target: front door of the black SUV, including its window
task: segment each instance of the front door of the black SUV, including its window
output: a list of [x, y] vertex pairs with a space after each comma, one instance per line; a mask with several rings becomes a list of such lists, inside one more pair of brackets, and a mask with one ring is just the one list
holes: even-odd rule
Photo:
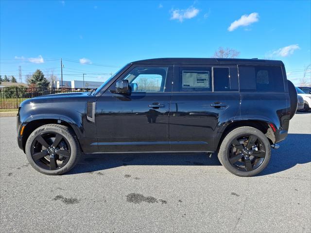
[[127, 79], [131, 95], [113, 94], [116, 80], [96, 103], [99, 150], [169, 150], [169, 106], [173, 66], [129, 68], [118, 80]]

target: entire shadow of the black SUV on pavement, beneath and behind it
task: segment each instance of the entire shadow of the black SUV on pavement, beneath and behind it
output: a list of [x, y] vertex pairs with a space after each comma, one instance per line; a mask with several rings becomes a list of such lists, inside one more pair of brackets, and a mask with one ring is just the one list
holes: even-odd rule
[[[311, 134], [290, 133], [280, 148], [272, 149], [268, 166], [258, 176], [290, 169], [311, 162]], [[82, 155], [66, 174], [86, 173], [119, 166], [221, 166], [217, 154], [208, 153], [120, 153]], [[225, 168], [224, 168], [225, 169]], [[65, 175], [66, 175], [65, 174]]]

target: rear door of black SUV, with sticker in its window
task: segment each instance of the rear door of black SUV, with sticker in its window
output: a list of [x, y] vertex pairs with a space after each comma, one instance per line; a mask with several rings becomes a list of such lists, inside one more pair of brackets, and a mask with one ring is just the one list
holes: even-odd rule
[[214, 151], [240, 105], [237, 66], [177, 65], [170, 107], [170, 149]]

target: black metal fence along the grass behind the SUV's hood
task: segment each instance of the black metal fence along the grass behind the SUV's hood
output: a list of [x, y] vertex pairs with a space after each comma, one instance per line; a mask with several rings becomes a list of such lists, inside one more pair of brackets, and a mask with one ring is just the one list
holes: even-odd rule
[[36, 96], [90, 91], [91, 89], [71, 89], [71, 88], [39, 88], [39, 87], [4, 87], [0, 88], [0, 109], [15, 109], [19, 104], [27, 99]]

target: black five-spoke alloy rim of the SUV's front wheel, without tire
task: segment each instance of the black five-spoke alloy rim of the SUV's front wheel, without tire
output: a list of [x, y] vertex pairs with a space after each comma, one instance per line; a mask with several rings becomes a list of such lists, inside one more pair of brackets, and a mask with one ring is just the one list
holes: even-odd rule
[[70, 159], [71, 149], [60, 133], [45, 132], [37, 135], [31, 145], [31, 156], [37, 166], [46, 170], [64, 167]]

